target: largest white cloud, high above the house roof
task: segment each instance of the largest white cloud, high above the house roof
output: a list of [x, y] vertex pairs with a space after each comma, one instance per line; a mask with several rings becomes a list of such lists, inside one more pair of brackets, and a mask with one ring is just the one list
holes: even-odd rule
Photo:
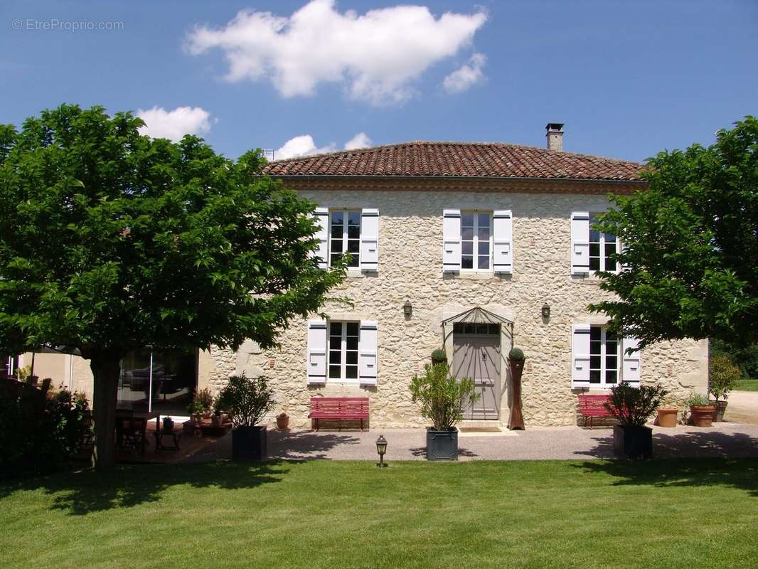
[[197, 25], [186, 38], [193, 55], [219, 48], [226, 79], [271, 80], [282, 96], [313, 95], [319, 83], [343, 83], [352, 99], [402, 102], [432, 65], [470, 44], [487, 14], [397, 5], [365, 14], [312, 0], [289, 17], [242, 10], [225, 26]]

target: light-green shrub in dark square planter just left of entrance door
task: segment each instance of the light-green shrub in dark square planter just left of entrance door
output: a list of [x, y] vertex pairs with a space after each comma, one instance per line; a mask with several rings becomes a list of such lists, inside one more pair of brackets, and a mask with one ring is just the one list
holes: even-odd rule
[[458, 429], [463, 410], [478, 401], [474, 381], [450, 375], [447, 363], [424, 366], [423, 376], [413, 376], [412, 401], [421, 405], [421, 416], [431, 420], [427, 428], [427, 460], [458, 460]]

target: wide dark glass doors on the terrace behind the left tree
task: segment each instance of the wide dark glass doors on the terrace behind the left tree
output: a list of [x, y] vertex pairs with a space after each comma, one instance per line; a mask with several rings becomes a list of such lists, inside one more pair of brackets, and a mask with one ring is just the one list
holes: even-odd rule
[[117, 404], [128, 409], [186, 415], [196, 388], [196, 351], [153, 352], [143, 348], [121, 360]]

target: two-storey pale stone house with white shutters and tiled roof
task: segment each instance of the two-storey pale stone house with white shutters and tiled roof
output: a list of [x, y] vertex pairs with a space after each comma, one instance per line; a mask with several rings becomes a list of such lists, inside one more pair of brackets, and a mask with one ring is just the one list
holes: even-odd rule
[[[548, 124], [547, 149], [413, 142], [271, 162], [267, 174], [318, 204], [324, 267], [351, 253], [333, 296], [352, 306], [330, 302], [325, 319], [293, 322], [280, 350], [247, 342], [236, 353], [186, 354], [183, 363], [165, 359], [158, 375], [188, 394], [216, 391], [231, 373], [264, 374], [277, 413], [296, 428], [310, 426], [309, 401], [318, 395], [370, 398], [373, 427], [424, 426], [408, 385], [439, 347], [481, 393], [467, 410], [471, 421], [507, 421], [514, 345], [528, 358], [527, 426], [576, 424], [578, 393], [622, 380], [659, 382], [678, 398], [706, 391], [707, 341], [628, 355], [634, 338], [616, 338], [603, 316], [587, 312], [609, 297], [594, 272], [614, 270], [608, 254], [619, 247], [590, 228], [592, 218], [609, 207], [609, 193], [644, 190], [643, 166], [563, 152], [562, 134], [562, 124]], [[70, 384], [89, 391], [88, 370], [70, 359]], [[124, 366], [124, 385], [140, 386], [130, 393], [160, 404], [168, 391], [163, 401], [171, 401], [172, 388], [148, 393], [155, 361], [138, 360]], [[126, 394], [124, 387], [124, 401], [135, 400]]]

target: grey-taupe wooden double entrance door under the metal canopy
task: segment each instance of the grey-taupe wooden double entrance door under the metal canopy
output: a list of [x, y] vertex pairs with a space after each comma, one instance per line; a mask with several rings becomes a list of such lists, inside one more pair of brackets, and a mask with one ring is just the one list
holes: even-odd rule
[[465, 419], [500, 419], [500, 326], [468, 324], [453, 332], [454, 376], [474, 380], [480, 398], [465, 410]]

